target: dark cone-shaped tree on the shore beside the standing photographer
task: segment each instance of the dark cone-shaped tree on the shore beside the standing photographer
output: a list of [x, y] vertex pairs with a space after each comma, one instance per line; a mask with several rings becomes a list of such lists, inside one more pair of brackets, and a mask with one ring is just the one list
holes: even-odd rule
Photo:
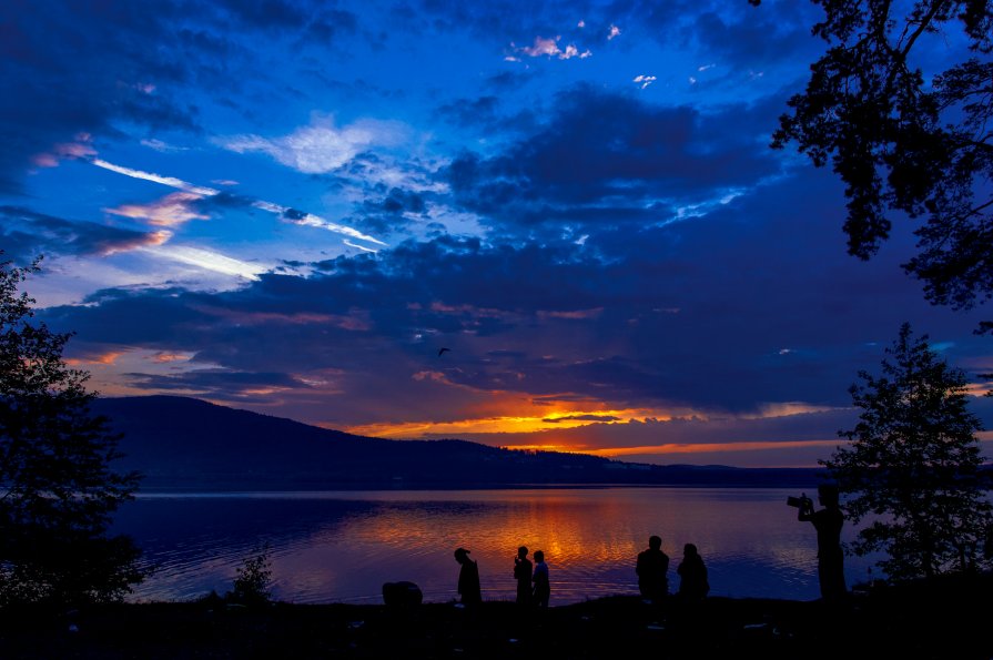
[[848, 517], [871, 520], [853, 549], [885, 552], [880, 567], [894, 579], [979, 567], [989, 559], [991, 506], [965, 375], [909, 324], [886, 354], [882, 375], [860, 372], [862, 384], [850, 388], [862, 410], [840, 434], [850, 445], [820, 461], [851, 496]]

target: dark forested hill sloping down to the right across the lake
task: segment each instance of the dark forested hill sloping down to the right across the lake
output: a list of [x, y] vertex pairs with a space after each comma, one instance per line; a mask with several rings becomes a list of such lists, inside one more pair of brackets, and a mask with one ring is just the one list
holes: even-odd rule
[[817, 484], [814, 469], [657, 466], [456, 439], [369, 438], [178, 396], [100, 398], [93, 412], [124, 434], [119, 467], [141, 471], [146, 490]]

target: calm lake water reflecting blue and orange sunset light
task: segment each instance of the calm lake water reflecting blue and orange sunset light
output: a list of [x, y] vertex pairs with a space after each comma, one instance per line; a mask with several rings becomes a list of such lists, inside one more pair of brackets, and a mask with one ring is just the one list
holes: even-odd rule
[[[231, 589], [235, 569], [268, 545], [280, 600], [382, 602], [383, 582], [411, 580], [425, 601], [456, 598], [453, 551], [472, 550], [484, 598], [513, 600], [517, 547], [545, 550], [551, 603], [637, 593], [634, 566], [662, 538], [670, 590], [682, 546], [696, 544], [711, 595], [819, 597], [813, 526], [783, 489], [595, 488], [322, 491], [139, 496], [115, 530], [144, 550], [151, 578], [130, 598], [188, 600]], [[852, 530], [845, 529], [843, 540]], [[847, 558], [849, 586], [867, 560]]]

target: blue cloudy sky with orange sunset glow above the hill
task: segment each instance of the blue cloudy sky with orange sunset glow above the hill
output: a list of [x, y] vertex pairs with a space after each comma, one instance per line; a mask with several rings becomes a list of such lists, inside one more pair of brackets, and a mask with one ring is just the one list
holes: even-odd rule
[[909, 322], [993, 428], [990, 308], [924, 299], [916, 221], [848, 256], [842, 184], [769, 148], [819, 12], [9, 0], [0, 248], [44, 256], [26, 290], [103, 396], [812, 466]]

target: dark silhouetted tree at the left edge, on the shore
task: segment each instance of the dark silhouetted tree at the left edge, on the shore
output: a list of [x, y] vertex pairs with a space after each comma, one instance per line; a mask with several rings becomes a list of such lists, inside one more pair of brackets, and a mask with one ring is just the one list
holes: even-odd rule
[[37, 270], [0, 262], [0, 603], [112, 600], [141, 578], [131, 539], [107, 536], [138, 475], [111, 467], [119, 436], [62, 359], [70, 335], [32, 322], [18, 291]]

